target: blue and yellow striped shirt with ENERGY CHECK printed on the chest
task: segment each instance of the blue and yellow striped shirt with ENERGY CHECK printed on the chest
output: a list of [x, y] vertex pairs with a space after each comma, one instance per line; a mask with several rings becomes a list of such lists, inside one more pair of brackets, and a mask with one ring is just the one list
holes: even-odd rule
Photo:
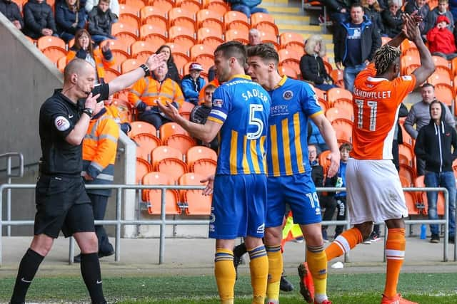
[[322, 113], [311, 85], [284, 76], [271, 95], [268, 118], [268, 176], [311, 172], [308, 162], [308, 117]]

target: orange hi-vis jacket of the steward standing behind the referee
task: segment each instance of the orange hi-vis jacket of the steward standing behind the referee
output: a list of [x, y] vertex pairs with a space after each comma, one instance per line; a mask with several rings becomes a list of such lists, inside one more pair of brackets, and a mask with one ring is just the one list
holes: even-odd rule
[[[112, 184], [116, 162], [119, 125], [105, 109], [94, 116], [83, 140], [83, 172], [94, 180], [86, 184]], [[88, 193], [109, 196], [110, 189], [87, 189]]]

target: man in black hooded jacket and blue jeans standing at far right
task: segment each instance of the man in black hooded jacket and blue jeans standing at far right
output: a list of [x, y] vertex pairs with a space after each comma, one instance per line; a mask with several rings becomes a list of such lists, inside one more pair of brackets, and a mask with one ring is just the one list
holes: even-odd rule
[[[457, 134], [453, 125], [445, 123], [446, 106], [438, 100], [430, 104], [431, 120], [421, 127], [414, 151], [426, 162], [426, 187], [444, 187], [449, 192], [449, 242], [453, 243], [456, 231], [456, 179], [452, 162], [457, 158]], [[437, 192], [427, 192], [428, 219], [438, 219], [436, 212]], [[439, 243], [437, 224], [430, 225], [431, 243]]]

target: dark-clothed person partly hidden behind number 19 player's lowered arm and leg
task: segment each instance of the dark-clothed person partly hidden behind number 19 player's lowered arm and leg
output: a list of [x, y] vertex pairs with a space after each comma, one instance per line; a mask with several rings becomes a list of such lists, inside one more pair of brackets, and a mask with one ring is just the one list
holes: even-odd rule
[[[308, 158], [311, 165], [311, 179], [313, 179], [316, 187], [323, 187], [323, 167], [319, 164], [317, 159], [316, 145], [308, 145]], [[319, 205], [321, 209], [325, 209], [322, 216], [322, 221], [331, 221], [336, 209], [336, 201], [332, 196], [323, 195], [318, 192]], [[327, 226], [322, 226], [322, 239], [325, 243], [328, 242]]]

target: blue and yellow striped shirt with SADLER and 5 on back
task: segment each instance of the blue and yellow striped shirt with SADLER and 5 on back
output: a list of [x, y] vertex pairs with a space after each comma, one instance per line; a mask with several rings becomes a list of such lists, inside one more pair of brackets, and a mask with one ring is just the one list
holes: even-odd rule
[[246, 75], [234, 75], [216, 89], [208, 120], [219, 132], [216, 174], [266, 174], [270, 95]]

